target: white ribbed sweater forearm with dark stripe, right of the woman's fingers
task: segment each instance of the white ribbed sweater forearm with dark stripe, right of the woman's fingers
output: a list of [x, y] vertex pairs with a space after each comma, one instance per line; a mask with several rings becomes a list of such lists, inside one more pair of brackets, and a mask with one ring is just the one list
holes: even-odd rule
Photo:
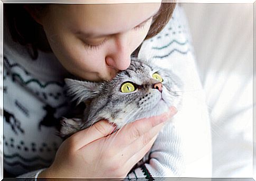
[[165, 125], [158, 134], [156, 142], [149, 152], [149, 162], [140, 165], [128, 174], [126, 180], [144, 177], [178, 177], [183, 170], [182, 142], [172, 123]]

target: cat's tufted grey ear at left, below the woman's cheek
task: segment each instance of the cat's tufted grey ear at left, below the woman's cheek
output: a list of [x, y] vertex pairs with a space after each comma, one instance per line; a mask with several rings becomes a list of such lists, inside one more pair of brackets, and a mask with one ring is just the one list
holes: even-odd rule
[[96, 82], [77, 81], [70, 78], [65, 78], [64, 81], [68, 88], [68, 95], [72, 96], [73, 100], [77, 100], [77, 104], [96, 97], [102, 87], [101, 83]]

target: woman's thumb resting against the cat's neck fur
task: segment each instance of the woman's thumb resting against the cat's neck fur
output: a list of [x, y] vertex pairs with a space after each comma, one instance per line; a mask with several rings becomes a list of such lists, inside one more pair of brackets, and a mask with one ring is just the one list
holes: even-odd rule
[[73, 134], [70, 138], [73, 139], [73, 142], [75, 143], [73, 144], [73, 146], [75, 146], [74, 149], [80, 149], [97, 139], [110, 135], [115, 128], [116, 127], [110, 124], [107, 120], [103, 119], [92, 126]]

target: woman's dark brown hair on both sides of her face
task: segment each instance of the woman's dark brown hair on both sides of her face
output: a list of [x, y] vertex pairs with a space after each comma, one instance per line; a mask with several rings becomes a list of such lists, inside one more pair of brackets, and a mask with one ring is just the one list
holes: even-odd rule
[[[145, 39], [155, 36], [164, 28], [170, 17], [172, 17], [175, 5], [175, 3], [161, 4], [158, 13], [153, 17], [153, 23]], [[38, 49], [50, 52], [51, 48], [40, 42], [39, 38], [42, 38], [42, 36], [46, 38], [42, 25], [34, 21], [24, 8], [25, 6], [33, 9], [36, 13], [42, 14], [47, 11], [49, 4], [4, 4], [4, 16], [6, 16], [7, 26], [13, 41], [26, 46], [32, 59], [36, 59]], [[140, 46], [135, 52], [138, 52], [139, 48]]]

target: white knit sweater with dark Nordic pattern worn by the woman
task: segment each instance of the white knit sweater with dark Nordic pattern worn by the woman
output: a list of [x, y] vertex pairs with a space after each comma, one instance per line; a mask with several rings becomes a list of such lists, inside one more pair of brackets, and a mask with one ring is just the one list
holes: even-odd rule
[[[6, 27], [5, 27], [6, 28]], [[183, 106], [159, 133], [149, 163], [126, 179], [211, 177], [211, 137], [204, 92], [197, 75], [191, 39], [181, 7], [162, 32], [141, 46], [139, 58], [170, 68], [184, 83]], [[52, 53], [39, 51], [33, 61], [4, 31], [4, 169], [36, 178], [53, 162], [62, 139], [54, 124], [69, 109], [63, 78], [69, 73]], [[50, 120], [48, 122], [47, 120]]]

